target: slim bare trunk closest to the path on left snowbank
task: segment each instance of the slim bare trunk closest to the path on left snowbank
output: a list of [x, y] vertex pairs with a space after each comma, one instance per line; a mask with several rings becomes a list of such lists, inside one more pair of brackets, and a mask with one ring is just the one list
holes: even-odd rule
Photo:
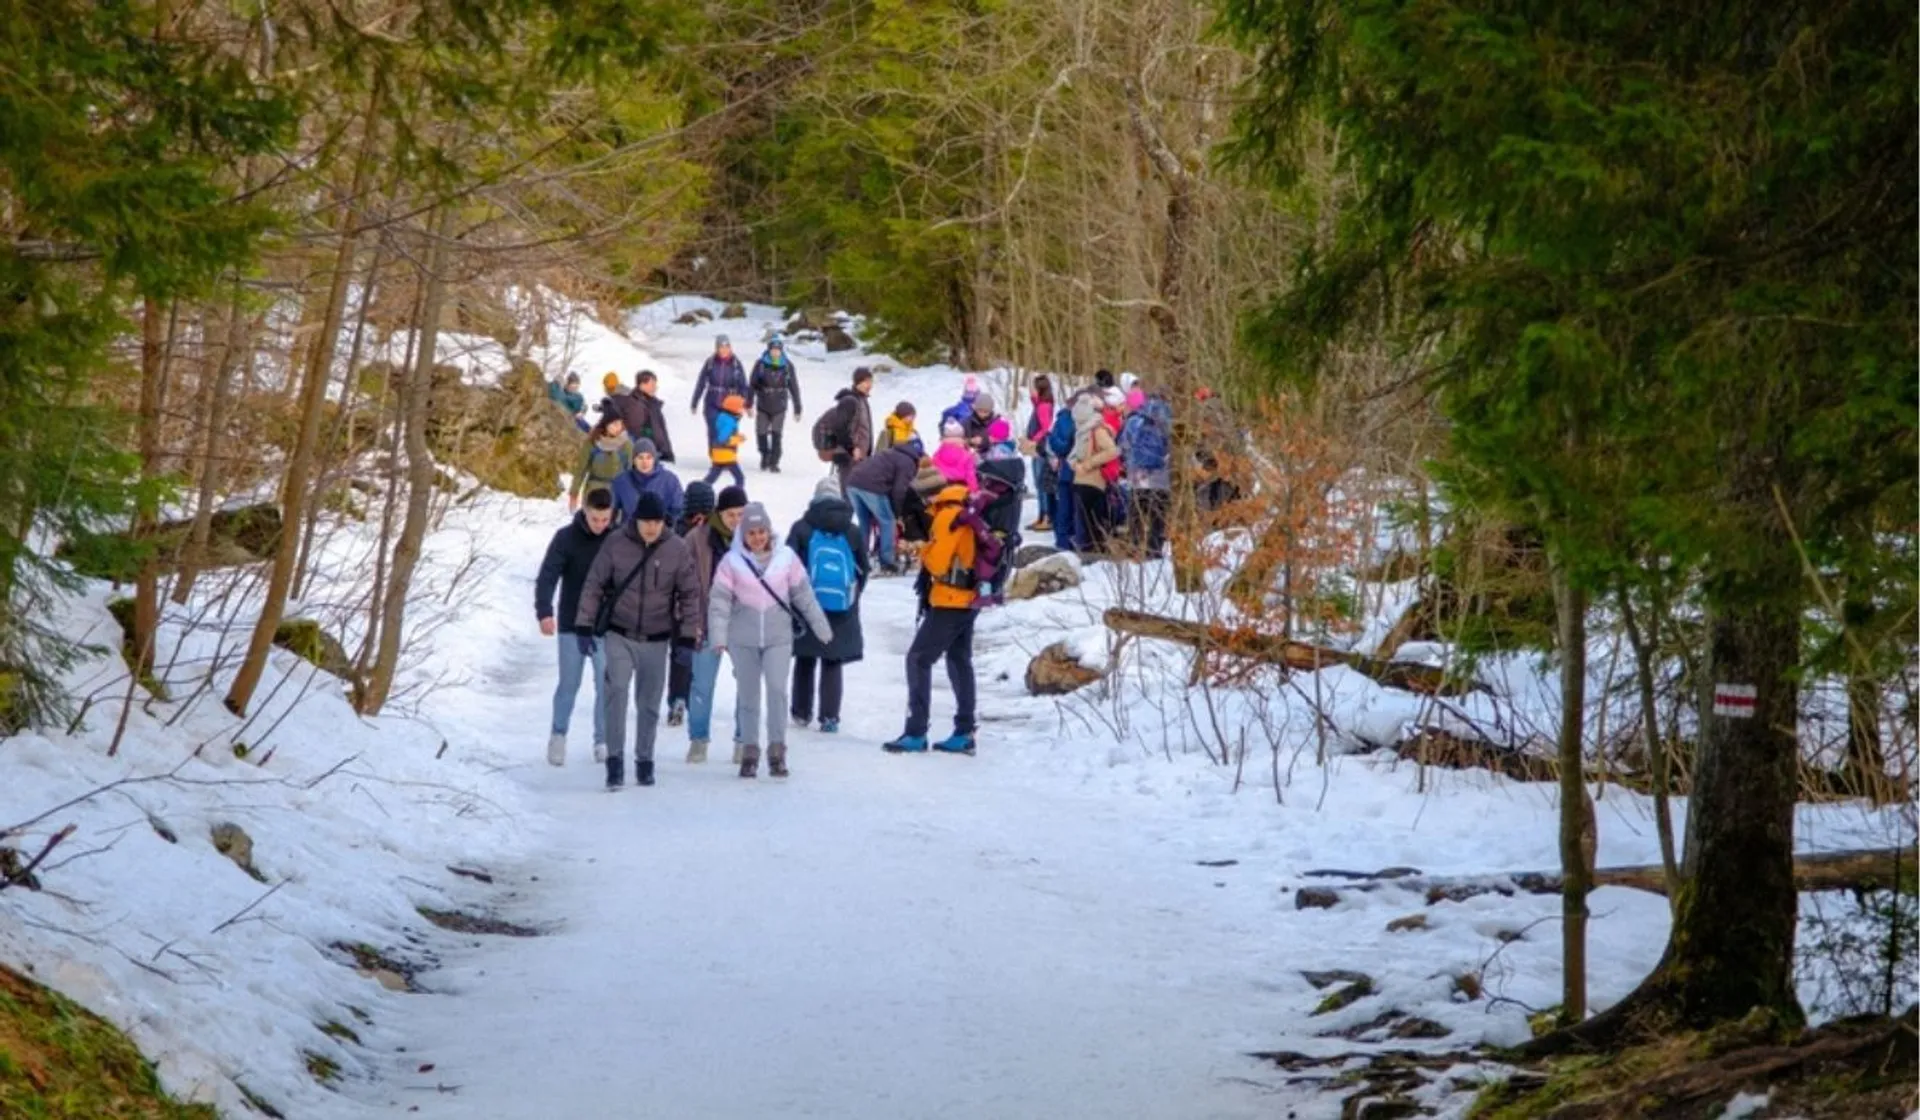
[[407, 613], [407, 592], [413, 586], [413, 569], [420, 561], [430, 513], [428, 505], [434, 499], [434, 457], [426, 448], [426, 407], [434, 386], [434, 344], [440, 334], [440, 307], [445, 302], [445, 242], [451, 229], [453, 211], [451, 207], [442, 207], [434, 217], [434, 234], [426, 248], [426, 298], [420, 302], [417, 330], [420, 352], [415, 355], [413, 373], [407, 377], [403, 403], [407, 423], [407, 521], [401, 523], [399, 540], [394, 544], [394, 571], [388, 576], [386, 609], [380, 619], [380, 653], [374, 657], [372, 672], [367, 678], [367, 692], [361, 695], [361, 715], [378, 715], [394, 690], [394, 672], [399, 667], [401, 622]]

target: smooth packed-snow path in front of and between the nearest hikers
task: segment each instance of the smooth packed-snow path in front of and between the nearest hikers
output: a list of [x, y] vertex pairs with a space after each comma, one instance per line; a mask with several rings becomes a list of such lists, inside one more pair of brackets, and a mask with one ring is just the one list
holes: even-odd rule
[[[755, 476], [797, 513], [812, 469]], [[505, 571], [505, 584], [524, 572]], [[516, 603], [515, 603], [516, 605]], [[551, 816], [509, 916], [540, 939], [445, 961], [399, 1107], [426, 1116], [1254, 1116], [1263, 1037], [1244, 953], [1271, 903], [1217, 889], [1204, 851], [1137, 805], [1035, 784], [1014, 726], [981, 755], [893, 757], [912, 636], [904, 580], [864, 605], [839, 736], [793, 732], [793, 778], [682, 761], [660, 730], [651, 790], [599, 790], [578, 734], [538, 763], [551, 642], [490, 651], [468, 726], [492, 728]], [[995, 692], [983, 682], [983, 711]], [[584, 711], [582, 697], [582, 717]], [[950, 713], [945, 682], [935, 720]], [[1016, 724], [1018, 726], [1018, 724]], [[1238, 1009], [1221, 1014], [1221, 1009]], [[420, 1087], [459, 1085], [457, 1093]]]

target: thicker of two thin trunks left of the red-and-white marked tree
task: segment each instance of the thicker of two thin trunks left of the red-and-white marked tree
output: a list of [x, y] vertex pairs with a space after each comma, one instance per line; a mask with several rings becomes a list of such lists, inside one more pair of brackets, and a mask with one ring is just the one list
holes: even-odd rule
[[1594, 818], [1586, 795], [1586, 592], [1553, 565], [1561, 655], [1561, 1022], [1586, 1020], [1586, 895], [1594, 878]]

